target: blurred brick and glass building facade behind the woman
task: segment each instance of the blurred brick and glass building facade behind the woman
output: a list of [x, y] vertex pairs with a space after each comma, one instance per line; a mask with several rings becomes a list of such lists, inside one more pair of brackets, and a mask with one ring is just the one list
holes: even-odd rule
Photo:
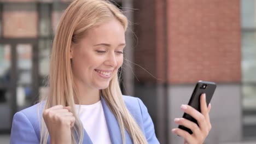
[[[0, 2], [0, 131], [46, 95], [55, 28], [70, 1]], [[256, 1], [113, 1], [130, 20], [121, 88], [139, 97], [160, 143], [199, 80], [217, 83], [206, 143], [256, 139]], [[8, 119], [8, 121], [7, 121]]]

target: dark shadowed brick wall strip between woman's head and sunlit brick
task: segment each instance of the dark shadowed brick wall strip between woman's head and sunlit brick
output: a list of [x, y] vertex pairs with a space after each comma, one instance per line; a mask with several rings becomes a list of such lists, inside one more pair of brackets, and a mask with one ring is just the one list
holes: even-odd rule
[[[133, 1], [134, 8], [134, 25], [135, 47], [134, 49], [135, 63], [146, 69], [150, 74], [156, 77], [156, 17], [155, 17], [155, 1], [141, 0]], [[127, 47], [128, 48], [128, 47]], [[147, 73], [146, 70], [135, 65], [135, 75], [139, 82], [156, 82], [156, 79]], [[137, 82], [137, 79], [135, 79]]]

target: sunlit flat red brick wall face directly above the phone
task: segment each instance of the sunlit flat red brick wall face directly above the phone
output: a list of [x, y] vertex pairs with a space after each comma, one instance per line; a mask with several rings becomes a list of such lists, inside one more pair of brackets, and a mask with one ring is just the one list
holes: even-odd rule
[[240, 1], [168, 0], [168, 82], [240, 82]]

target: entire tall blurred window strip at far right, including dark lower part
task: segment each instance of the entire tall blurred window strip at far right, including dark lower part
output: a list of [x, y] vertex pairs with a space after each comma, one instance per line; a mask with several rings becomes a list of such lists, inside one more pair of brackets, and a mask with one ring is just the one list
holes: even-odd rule
[[243, 138], [256, 134], [256, 0], [241, 1]]

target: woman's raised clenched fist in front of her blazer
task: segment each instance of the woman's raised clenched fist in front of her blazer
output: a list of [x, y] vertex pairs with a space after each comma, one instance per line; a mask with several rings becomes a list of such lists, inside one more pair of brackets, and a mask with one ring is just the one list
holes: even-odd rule
[[75, 117], [69, 106], [56, 105], [43, 112], [44, 122], [49, 131], [50, 143], [72, 143], [71, 128]]

